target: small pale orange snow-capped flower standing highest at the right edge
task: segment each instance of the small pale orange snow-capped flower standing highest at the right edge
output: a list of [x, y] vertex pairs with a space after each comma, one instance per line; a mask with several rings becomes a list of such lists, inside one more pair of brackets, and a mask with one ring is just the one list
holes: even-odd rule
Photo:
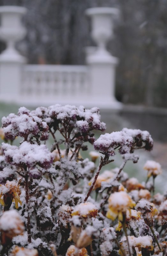
[[153, 176], [155, 178], [162, 173], [161, 165], [153, 160], [148, 160], [144, 165], [144, 169], [148, 171], [148, 177]]

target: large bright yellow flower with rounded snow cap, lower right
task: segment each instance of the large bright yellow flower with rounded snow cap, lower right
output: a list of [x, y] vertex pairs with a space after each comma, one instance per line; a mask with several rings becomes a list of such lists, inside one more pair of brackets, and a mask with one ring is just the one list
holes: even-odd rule
[[133, 208], [136, 204], [131, 199], [131, 197], [125, 192], [115, 192], [109, 197], [109, 209], [107, 211], [107, 218], [115, 220], [118, 217], [118, 220], [123, 221], [123, 214], [126, 213], [126, 210]]

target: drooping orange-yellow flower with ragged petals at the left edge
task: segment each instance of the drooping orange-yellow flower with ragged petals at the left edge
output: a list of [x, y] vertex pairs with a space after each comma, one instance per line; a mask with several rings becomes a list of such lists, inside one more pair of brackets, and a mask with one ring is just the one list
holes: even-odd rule
[[19, 185], [15, 181], [7, 181], [5, 185], [0, 185], [0, 203], [4, 205], [5, 210], [10, 208], [12, 200], [15, 201], [15, 207], [18, 209], [18, 203], [21, 205], [20, 194]]

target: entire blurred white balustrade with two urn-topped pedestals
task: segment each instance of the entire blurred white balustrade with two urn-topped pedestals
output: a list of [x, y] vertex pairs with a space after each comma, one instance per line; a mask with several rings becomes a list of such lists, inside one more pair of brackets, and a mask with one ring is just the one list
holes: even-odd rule
[[92, 37], [97, 47], [87, 48], [86, 66], [27, 65], [15, 49], [24, 38], [21, 17], [26, 9], [1, 6], [0, 38], [6, 49], [0, 54], [0, 100], [21, 105], [75, 104], [86, 107], [120, 108], [115, 94], [115, 69], [118, 59], [106, 50], [112, 37], [115, 8], [91, 8]]

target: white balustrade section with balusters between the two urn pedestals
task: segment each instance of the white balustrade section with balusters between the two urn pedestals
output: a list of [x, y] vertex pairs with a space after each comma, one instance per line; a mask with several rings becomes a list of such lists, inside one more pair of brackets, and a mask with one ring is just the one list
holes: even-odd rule
[[90, 92], [87, 66], [25, 65], [20, 95], [26, 104], [80, 104]]

